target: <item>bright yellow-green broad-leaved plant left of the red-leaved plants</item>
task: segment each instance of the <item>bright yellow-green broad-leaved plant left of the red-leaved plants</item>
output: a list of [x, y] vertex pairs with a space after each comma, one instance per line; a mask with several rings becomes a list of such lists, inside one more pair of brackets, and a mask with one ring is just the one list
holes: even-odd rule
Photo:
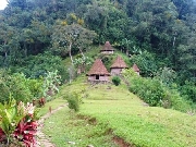
[[24, 113], [17, 112], [17, 106], [14, 99], [10, 99], [4, 105], [0, 103], [0, 128], [5, 134], [7, 144], [10, 144], [15, 127], [24, 117]]

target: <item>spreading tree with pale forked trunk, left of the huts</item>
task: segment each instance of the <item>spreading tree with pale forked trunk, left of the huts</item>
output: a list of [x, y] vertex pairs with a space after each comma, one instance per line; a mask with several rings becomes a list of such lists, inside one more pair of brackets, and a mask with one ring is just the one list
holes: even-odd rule
[[54, 26], [52, 49], [58, 51], [61, 56], [63, 53], [69, 53], [73, 64], [72, 49], [75, 47], [79, 49], [83, 54], [83, 48], [93, 42], [96, 34], [78, 24], [62, 25], [61, 23]]

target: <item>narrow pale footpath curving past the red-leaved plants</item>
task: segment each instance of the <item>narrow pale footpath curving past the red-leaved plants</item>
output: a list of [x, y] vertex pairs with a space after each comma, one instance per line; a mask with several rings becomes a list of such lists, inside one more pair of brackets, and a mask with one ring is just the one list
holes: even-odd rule
[[51, 114], [56, 113], [57, 111], [59, 111], [60, 109], [62, 109], [63, 107], [66, 107], [68, 103], [62, 105], [60, 107], [58, 107], [57, 109], [52, 110], [51, 113], [48, 112], [47, 114], [45, 114], [44, 117], [41, 117], [38, 121], [39, 126], [37, 130], [37, 145], [36, 147], [56, 147], [56, 145], [53, 145], [48, 137], [41, 132], [41, 128], [44, 126], [44, 122], [46, 119], [48, 119]]

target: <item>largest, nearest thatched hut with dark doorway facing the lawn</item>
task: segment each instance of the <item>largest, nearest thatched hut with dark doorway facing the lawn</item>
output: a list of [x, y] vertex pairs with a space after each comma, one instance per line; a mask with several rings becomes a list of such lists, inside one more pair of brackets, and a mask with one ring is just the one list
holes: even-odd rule
[[89, 82], [108, 82], [110, 73], [100, 59], [97, 59], [89, 72], [86, 74]]

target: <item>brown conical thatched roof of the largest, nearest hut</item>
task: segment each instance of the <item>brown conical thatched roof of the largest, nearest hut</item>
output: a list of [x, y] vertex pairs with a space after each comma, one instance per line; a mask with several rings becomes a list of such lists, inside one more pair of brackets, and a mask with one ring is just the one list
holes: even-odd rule
[[87, 75], [110, 75], [100, 59], [97, 59]]

